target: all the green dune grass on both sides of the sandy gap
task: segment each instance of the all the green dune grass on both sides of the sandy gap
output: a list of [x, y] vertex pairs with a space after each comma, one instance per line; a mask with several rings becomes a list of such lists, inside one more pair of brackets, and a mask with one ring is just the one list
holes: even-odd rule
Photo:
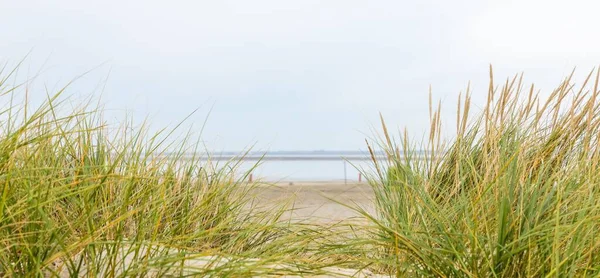
[[[8, 75], [10, 76], [9, 73]], [[490, 72], [490, 76], [492, 76]], [[456, 137], [440, 107], [428, 141], [383, 134], [363, 173], [366, 224], [289, 221], [258, 205], [240, 160], [215, 166], [191, 136], [108, 125], [62, 91], [36, 109], [0, 79], [1, 276], [600, 275], [599, 74], [548, 97], [522, 76], [472, 112], [459, 97]], [[425, 159], [420, 150], [427, 150]], [[168, 154], [168, 155], [167, 155]], [[241, 154], [243, 155], [243, 154]], [[374, 158], [374, 155], [373, 155]], [[346, 204], [353, 207], [353, 204]], [[339, 270], [339, 269], [337, 269]]]

